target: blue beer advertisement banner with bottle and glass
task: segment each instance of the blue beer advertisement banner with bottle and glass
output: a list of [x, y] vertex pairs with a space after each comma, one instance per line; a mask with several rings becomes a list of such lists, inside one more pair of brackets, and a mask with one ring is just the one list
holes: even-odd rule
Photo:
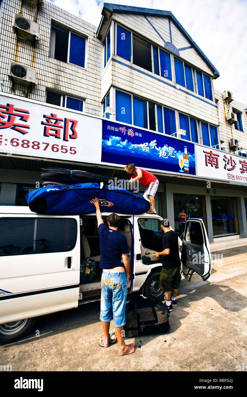
[[110, 120], [102, 120], [101, 161], [196, 175], [193, 143]]

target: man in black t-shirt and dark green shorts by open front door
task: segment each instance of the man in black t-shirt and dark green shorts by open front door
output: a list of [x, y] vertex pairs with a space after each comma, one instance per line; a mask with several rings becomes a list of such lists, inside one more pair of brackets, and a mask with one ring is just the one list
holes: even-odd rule
[[[167, 308], [172, 311], [172, 305], [176, 306], [176, 296], [181, 281], [181, 261], [178, 252], [178, 235], [174, 230], [170, 230], [168, 220], [161, 221], [161, 230], [165, 233], [162, 237], [163, 251], [156, 252], [162, 258], [162, 269], [159, 278], [159, 287], [165, 291]], [[172, 297], [171, 295], [172, 291]]]

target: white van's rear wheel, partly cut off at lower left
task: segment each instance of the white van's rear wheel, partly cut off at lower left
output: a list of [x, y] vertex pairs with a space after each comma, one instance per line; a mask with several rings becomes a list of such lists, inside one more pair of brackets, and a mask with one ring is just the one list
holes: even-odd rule
[[0, 324], [0, 343], [9, 343], [27, 335], [33, 328], [36, 318], [11, 321]]

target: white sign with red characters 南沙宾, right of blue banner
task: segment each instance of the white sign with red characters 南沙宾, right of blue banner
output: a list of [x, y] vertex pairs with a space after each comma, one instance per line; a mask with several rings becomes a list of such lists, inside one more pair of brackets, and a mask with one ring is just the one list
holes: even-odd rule
[[205, 146], [196, 146], [197, 175], [247, 183], [247, 158]]

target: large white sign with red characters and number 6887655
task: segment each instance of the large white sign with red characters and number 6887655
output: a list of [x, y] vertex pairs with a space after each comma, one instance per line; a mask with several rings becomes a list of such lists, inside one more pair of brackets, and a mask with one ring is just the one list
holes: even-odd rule
[[101, 119], [0, 95], [0, 154], [100, 162]]

